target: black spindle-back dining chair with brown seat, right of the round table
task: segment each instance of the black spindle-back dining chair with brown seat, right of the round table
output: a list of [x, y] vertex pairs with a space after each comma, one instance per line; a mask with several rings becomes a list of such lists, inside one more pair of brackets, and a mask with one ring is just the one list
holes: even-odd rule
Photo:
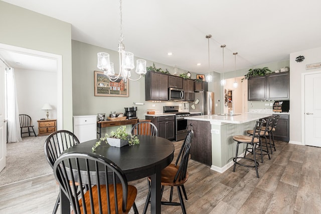
[[[189, 178], [189, 174], [187, 172], [187, 166], [188, 166], [188, 161], [190, 156], [190, 148], [191, 148], [193, 135], [194, 135], [193, 129], [189, 130], [182, 144], [181, 150], [178, 154], [175, 164], [171, 163], [166, 168], [164, 168], [161, 173], [162, 174], [161, 175], [162, 195], [164, 192], [164, 187], [171, 186], [170, 201], [162, 201], [162, 204], [163, 205], [181, 205], [182, 211], [184, 214], [186, 213], [186, 208], [184, 205], [181, 188], [183, 190], [185, 199], [187, 200], [188, 198], [184, 187], [184, 183], [186, 183], [187, 179]], [[148, 179], [150, 180], [151, 178], [148, 177]], [[180, 203], [172, 201], [174, 186], [177, 187]], [[150, 188], [148, 190], [148, 194], [147, 194], [147, 198], [146, 198], [146, 202], [143, 210], [144, 214], [147, 211], [149, 202], [150, 202]]]

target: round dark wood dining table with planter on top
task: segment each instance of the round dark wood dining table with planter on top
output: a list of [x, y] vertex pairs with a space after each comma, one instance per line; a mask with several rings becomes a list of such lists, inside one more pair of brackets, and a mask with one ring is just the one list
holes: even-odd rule
[[[137, 135], [139, 144], [113, 147], [104, 141], [92, 151], [98, 139], [82, 142], [66, 149], [62, 154], [69, 152], [92, 152], [100, 154], [121, 168], [127, 181], [150, 177], [150, 213], [161, 213], [161, 171], [174, 158], [174, 144], [163, 138], [149, 135]], [[147, 185], [147, 183], [146, 183]], [[138, 189], [139, 191], [139, 189]], [[60, 190], [61, 213], [70, 213], [68, 197]]]

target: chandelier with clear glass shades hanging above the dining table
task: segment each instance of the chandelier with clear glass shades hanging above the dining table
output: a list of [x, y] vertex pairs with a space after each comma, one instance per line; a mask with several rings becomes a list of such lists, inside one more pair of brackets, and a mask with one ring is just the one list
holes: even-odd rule
[[114, 64], [109, 61], [109, 54], [100, 52], [97, 54], [97, 68], [104, 72], [104, 75], [108, 77], [111, 82], [115, 82], [118, 79], [122, 79], [127, 82], [127, 79], [131, 81], [137, 81], [142, 75], [146, 74], [146, 61], [137, 60], [136, 61], [136, 73], [139, 75], [138, 79], [131, 79], [130, 71], [135, 68], [134, 66], [134, 54], [125, 51], [125, 45], [123, 44], [124, 36], [122, 34], [122, 0], [120, 0], [120, 39], [118, 44], [119, 53], [119, 73], [115, 76]]

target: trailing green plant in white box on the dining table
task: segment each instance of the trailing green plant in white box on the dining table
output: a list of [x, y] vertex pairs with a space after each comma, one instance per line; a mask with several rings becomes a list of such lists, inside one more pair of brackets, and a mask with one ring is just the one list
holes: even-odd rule
[[126, 126], [120, 126], [117, 128], [116, 131], [111, 131], [110, 135], [105, 133], [104, 137], [101, 137], [99, 141], [96, 142], [96, 144], [92, 147], [92, 151], [96, 151], [96, 148], [100, 145], [102, 141], [105, 141], [108, 143], [107, 138], [117, 138], [117, 139], [122, 139], [122, 140], [128, 140], [128, 144], [130, 146], [139, 144], [139, 139], [136, 135], [131, 135], [126, 132]]

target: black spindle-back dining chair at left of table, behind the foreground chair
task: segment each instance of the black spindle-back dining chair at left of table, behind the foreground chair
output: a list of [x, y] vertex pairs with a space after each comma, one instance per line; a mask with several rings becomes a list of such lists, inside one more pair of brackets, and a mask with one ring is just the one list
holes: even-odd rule
[[[49, 165], [54, 168], [54, 164], [60, 154], [67, 148], [77, 145], [79, 143], [78, 138], [72, 132], [68, 130], [58, 130], [51, 133], [44, 145], [45, 156]], [[57, 212], [58, 205], [60, 203], [60, 197], [58, 195], [53, 213]]]

